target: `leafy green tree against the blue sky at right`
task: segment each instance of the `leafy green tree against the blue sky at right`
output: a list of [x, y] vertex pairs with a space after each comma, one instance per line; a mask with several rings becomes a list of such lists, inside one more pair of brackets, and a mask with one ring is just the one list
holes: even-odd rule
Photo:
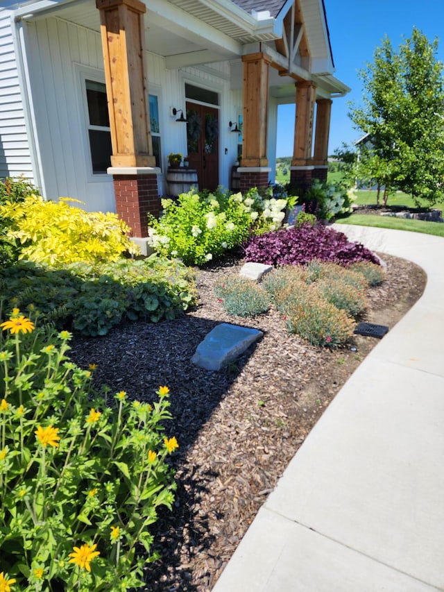
[[358, 174], [388, 192], [402, 189], [420, 203], [444, 199], [444, 79], [438, 40], [417, 28], [393, 50], [386, 37], [373, 63], [359, 72], [363, 104], [350, 105], [355, 127], [371, 138]]

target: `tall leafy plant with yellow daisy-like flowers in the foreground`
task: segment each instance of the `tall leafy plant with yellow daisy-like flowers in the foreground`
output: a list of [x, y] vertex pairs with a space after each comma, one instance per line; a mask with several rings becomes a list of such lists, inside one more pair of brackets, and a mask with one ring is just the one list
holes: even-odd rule
[[169, 389], [96, 394], [69, 332], [46, 337], [18, 309], [0, 327], [0, 589], [139, 589], [173, 502]]

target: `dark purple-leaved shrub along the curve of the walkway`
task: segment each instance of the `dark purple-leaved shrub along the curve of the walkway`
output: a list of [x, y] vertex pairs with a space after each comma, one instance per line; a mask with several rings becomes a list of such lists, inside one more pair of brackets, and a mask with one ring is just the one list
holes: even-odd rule
[[328, 226], [308, 226], [267, 232], [251, 237], [244, 246], [245, 260], [268, 265], [305, 265], [314, 258], [340, 265], [359, 261], [378, 264], [364, 245], [349, 242], [343, 232]]

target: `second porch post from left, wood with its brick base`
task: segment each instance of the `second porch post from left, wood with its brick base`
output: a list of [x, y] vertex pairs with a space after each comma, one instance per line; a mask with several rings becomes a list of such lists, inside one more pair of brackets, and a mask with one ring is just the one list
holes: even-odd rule
[[268, 185], [268, 67], [264, 53], [242, 56], [244, 62], [244, 142], [239, 167], [241, 191]]

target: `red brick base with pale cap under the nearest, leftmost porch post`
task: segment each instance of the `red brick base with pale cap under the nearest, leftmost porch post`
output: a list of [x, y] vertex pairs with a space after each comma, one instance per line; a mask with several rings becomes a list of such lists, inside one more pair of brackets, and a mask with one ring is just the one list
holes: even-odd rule
[[[155, 169], [152, 170], [155, 171]], [[153, 216], [159, 217], [161, 211], [157, 175], [155, 172], [118, 174], [117, 171], [119, 171], [117, 168], [108, 170], [112, 174], [114, 183], [117, 215], [131, 228], [131, 237], [147, 237], [146, 214], [149, 212]]]

